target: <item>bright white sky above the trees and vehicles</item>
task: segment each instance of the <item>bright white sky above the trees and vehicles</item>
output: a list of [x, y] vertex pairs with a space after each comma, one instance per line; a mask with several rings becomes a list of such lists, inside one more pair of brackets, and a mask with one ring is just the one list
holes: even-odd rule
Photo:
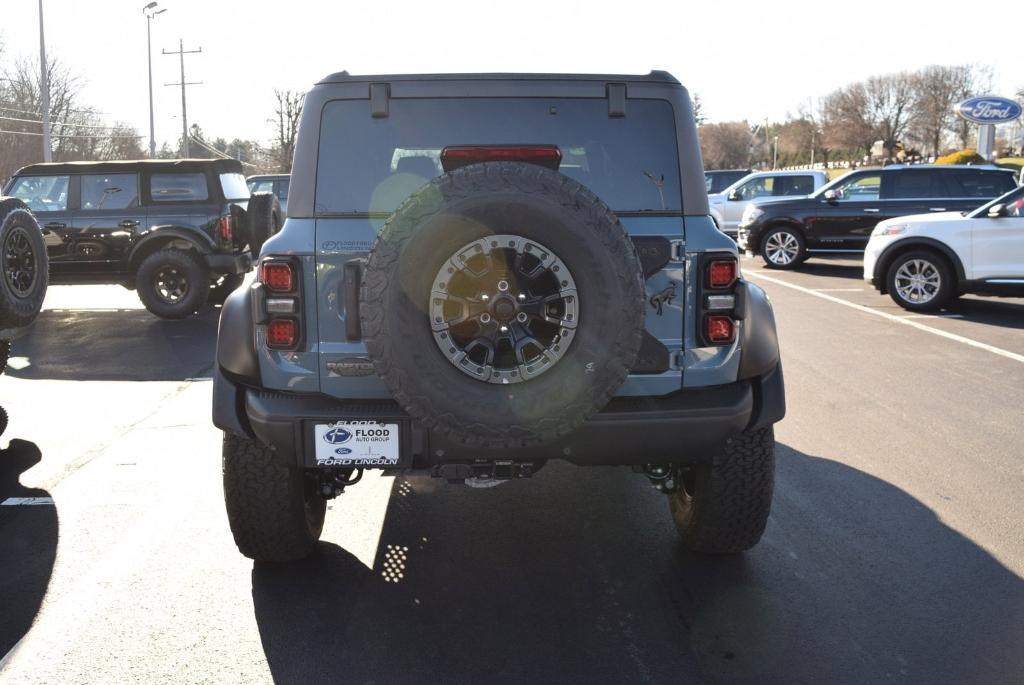
[[[143, 0], [43, 0], [48, 53], [84, 80], [81, 100], [123, 120], [148, 144]], [[955, 12], [950, 11], [956, 7]], [[969, 7], [977, 7], [976, 17]], [[646, 73], [664, 69], [700, 95], [716, 121], [781, 119], [872, 74], [975, 62], [997, 94], [1024, 86], [1024, 52], [1000, 38], [1014, 3], [487, 2], [161, 0], [153, 23], [157, 145], [181, 129], [177, 56], [185, 55], [188, 121], [208, 138], [266, 140], [273, 89], [308, 89], [332, 72]], [[1013, 10], [1009, 16], [1007, 10]], [[1009, 19], [1008, 25], [1002, 19]], [[37, 0], [2, 0], [4, 60], [38, 55]]]

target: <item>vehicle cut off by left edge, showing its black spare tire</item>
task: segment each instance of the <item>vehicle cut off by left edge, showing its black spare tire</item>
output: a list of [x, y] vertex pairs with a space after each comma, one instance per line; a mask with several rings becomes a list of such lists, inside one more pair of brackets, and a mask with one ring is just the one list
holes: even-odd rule
[[[7, 369], [11, 341], [35, 323], [46, 298], [46, 246], [39, 222], [17, 198], [0, 197], [0, 374]], [[0, 408], [0, 433], [7, 412]]]

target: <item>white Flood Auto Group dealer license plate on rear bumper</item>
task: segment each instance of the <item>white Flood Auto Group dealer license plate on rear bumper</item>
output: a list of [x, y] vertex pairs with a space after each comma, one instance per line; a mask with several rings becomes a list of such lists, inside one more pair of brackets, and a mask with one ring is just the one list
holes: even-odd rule
[[316, 466], [397, 466], [398, 424], [339, 421], [313, 426]]

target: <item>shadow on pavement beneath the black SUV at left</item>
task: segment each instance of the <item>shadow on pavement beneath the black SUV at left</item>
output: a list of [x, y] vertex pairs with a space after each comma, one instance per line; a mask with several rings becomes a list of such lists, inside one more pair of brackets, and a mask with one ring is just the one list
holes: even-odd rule
[[[6, 375], [70, 381], [179, 381], [213, 368], [220, 310], [165, 320], [144, 309], [47, 309], [11, 347]], [[27, 365], [26, 365], [27, 362]]]

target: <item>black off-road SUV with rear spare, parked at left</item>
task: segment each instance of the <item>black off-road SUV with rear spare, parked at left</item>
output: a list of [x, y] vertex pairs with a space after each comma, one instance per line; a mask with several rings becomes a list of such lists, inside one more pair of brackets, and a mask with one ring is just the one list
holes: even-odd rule
[[241, 283], [283, 216], [234, 160], [34, 164], [4, 188], [42, 224], [50, 283], [114, 283], [182, 318]]

